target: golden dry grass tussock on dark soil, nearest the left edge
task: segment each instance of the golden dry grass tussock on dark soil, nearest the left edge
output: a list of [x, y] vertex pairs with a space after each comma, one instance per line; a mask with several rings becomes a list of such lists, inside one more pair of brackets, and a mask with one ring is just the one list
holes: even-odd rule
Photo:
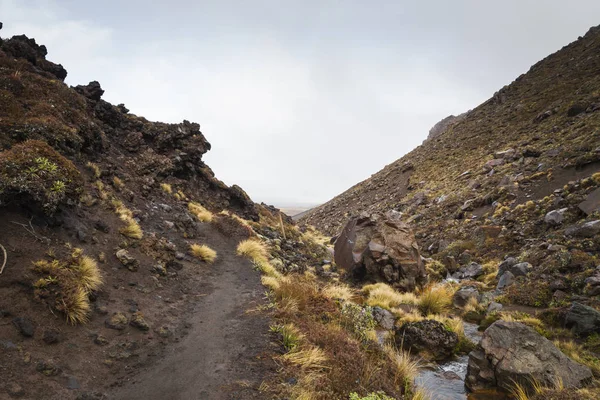
[[43, 276], [34, 283], [36, 297], [64, 313], [71, 324], [88, 321], [89, 294], [103, 284], [94, 259], [75, 249], [66, 261], [40, 260], [34, 263], [33, 270]]

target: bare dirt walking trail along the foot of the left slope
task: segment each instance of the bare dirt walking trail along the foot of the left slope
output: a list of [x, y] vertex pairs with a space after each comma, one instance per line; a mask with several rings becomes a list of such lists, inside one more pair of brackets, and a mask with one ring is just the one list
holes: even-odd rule
[[252, 311], [264, 304], [260, 275], [235, 256], [234, 244], [213, 247], [220, 260], [206, 276], [187, 321], [188, 334], [110, 393], [110, 399], [265, 398], [258, 387], [274, 368], [269, 354], [274, 345], [268, 317]]

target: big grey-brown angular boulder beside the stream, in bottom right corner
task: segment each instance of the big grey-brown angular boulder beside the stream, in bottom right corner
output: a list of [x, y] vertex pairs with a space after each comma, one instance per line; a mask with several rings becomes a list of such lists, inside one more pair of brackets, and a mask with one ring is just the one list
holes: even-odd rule
[[520, 322], [496, 321], [469, 354], [465, 385], [470, 390], [510, 390], [514, 382], [531, 379], [551, 386], [561, 379], [565, 387], [581, 387], [592, 371], [564, 355], [552, 342]]

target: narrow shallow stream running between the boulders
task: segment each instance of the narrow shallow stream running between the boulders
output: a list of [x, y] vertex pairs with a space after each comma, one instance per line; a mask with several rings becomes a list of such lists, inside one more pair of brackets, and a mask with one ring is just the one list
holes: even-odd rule
[[[473, 342], [479, 343], [481, 332], [477, 325], [464, 323], [465, 335]], [[455, 357], [452, 360], [438, 363], [435, 367], [423, 369], [417, 376], [416, 384], [424, 388], [431, 400], [504, 400], [506, 395], [497, 392], [468, 393], [465, 388], [465, 376], [469, 356]]]

